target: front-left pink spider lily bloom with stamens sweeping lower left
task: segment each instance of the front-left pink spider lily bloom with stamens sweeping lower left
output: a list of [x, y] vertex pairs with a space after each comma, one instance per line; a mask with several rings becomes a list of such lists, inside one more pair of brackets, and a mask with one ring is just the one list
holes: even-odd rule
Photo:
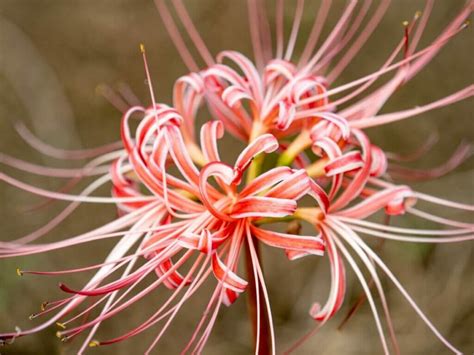
[[[132, 138], [128, 121], [135, 112], [142, 112], [144, 117]], [[217, 139], [224, 133], [223, 125], [220, 121], [208, 122], [201, 129], [201, 149], [208, 163], [199, 171], [184, 146], [178, 128], [180, 122], [179, 114], [165, 105], [157, 105], [155, 109], [132, 107], [124, 115], [122, 137], [126, 153], [112, 163], [111, 172], [107, 175], [113, 184], [112, 193], [115, 197], [111, 199], [77, 198], [86, 202], [114, 201], [120, 211], [125, 213], [122, 217], [107, 226], [71, 238], [66, 242], [34, 246], [3, 243], [2, 256], [5, 257], [45, 252], [89, 242], [99, 237], [124, 234], [121, 242], [103, 264], [63, 272], [21, 271], [22, 274], [57, 275], [99, 269], [96, 276], [81, 290], [72, 290], [61, 284], [61, 289], [73, 296], [58, 302], [53, 307], [54, 309], [62, 307], [62, 310], [49, 321], [30, 331], [7, 334], [5, 337], [37, 331], [63, 318], [65, 314], [78, 307], [85, 297], [101, 297], [92, 308], [89, 307], [86, 310], [89, 312], [95, 306], [105, 302], [106, 305], [98, 317], [85, 324], [61, 331], [61, 337], [69, 339], [89, 328], [92, 328], [94, 332], [94, 327], [103, 320], [125, 309], [161, 284], [174, 290], [167, 304], [145, 323], [121, 337], [100, 342], [100, 344], [113, 343], [148, 329], [166, 316], [171, 320], [186, 299], [209, 276], [210, 270], [219, 283], [209, 307], [218, 309], [221, 303], [230, 305], [247, 285], [245, 280], [237, 276], [236, 269], [242, 244], [252, 236], [265, 244], [282, 248], [287, 253], [322, 255], [324, 243], [320, 237], [272, 232], [252, 223], [262, 218], [281, 218], [294, 214], [297, 208], [296, 201], [305, 194], [314, 196], [319, 208], [327, 209], [327, 197], [324, 191], [308, 177], [304, 169], [292, 170], [289, 167], [276, 167], [257, 177], [241, 191], [237, 190], [252, 159], [262, 152], [270, 153], [278, 148], [275, 137], [271, 134], [259, 136], [242, 151], [235, 165], [230, 167], [220, 162], [217, 150]], [[170, 163], [179, 169], [183, 178], [169, 175], [167, 165]], [[130, 171], [134, 172], [136, 181], [126, 177], [127, 172]], [[221, 187], [221, 192], [208, 183], [210, 177], [215, 177]], [[2, 178], [6, 182], [34, 193], [52, 198], [73, 199], [70, 195], [48, 193], [29, 187], [4, 175]], [[137, 187], [138, 183], [146, 186], [152, 195], [142, 195]], [[196, 199], [200, 199], [202, 203], [197, 203]], [[131, 225], [129, 231], [118, 232]], [[128, 249], [139, 239], [142, 241], [137, 251], [125, 257]], [[145, 264], [131, 272], [130, 265], [136, 263], [140, 257], [146, 259]], [[225, 262], [222, 261], [224, 257]], [[172, 261], [172, 258], [176, 261]], [[195, 258], [194, 264], [188, 273], [182, 276], [178, 268], [190, 258]], [[205, 271], [205, 265], [210, 269]], [[259, 270], [257, 259], [254, 260], [254, 265], [256, 270]], [[126, 269], [120, 279], [100, 285], [101, 281], [119, 268]], [[198, 268], [200, 272], [197, 271]], [[158, 277], [154, 284], [131, 299], [120, 302], [151, 272], [155, 272]], [[261, 272], [256, 278], [257, 282], [264, 285], [260, 274]], [[169, 303], [184, 291], [184, 286], [188, 287], [184, 295], [181, 295], [181, 301], [171, 306]], [[125, 292], [115, 300], [116, 292], [119, 290], [125, 290]], [[268, 299], [265, 301], [268, 305]], [[50, 310], [52, 309], [45, 309], [42, 313]], [[62, 321], [60, 324], [69, 324], [77, 317]], [[214, 321], [215, 317], [209, 321], [201, 340], [196, 345], [197, 349], [204, 345]], [[156, 341], [166, 327], [167, 325], [163, 327]], [[151, 347], [154, 345], [155, 343]]]

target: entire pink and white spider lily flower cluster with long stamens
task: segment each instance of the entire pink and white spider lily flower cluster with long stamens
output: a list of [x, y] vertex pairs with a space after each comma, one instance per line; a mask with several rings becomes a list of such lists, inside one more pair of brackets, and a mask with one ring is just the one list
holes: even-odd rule
[[[156, 5], [190, 70], [190, 74], [176, 81], [172, 106], [156, 102], [142, 46], [151, 105], [137, 104], [136, 98], [126, 90], [122, 90], [122, 94], [105, 91], [110, 101], [124, 111], [120, 147], [111, 144], [86, 151], [60, 151], [40, 142], [24, 126], [19, 126], [18, 131], [25, 140], [45, 154], [92, 160], [83, 169], [68, 170], [40, 167], [2, 156], [2, 163], [23, 171], [71, 178], [67, 189], [71, 189], [79, 179], [99, 177], [80, 194], [73, 195], [67, 191], [46, 191], [0, 172], [0, 180], [7, 184], [48, 199], [71, 201], [42, 228], [20, 239], [1, 242], [0, 258], [45, 253], [106, 238], [120, 239], [101, 264], [51, 272], [18, 270], [21, 275], [63, 277], [68, 273], [94, 271], [95, 274], [79, 288], [60, 284], [68, 296], [44, 303], [41, 312], [31, 317], [46, 317], [43, 323], [28, 330], [17, 329], [2, 334], [0, 339], [9, 342], [57, 323], [62, 328], [58, 332], [62, 340], [87, 334], [79, 350], [82, 353], [88, 345], [116, 343], [156, 325], [159, 331], [149, 345], [147, 352], [150, 352], [182, 306], [206, 280], [214, 278], [215, 286], [210, 290], [209, 303], [184, 352], [201, 352], [222, 305], [232, 305], [249, 288], [254, 290], [255, 299], [251, 302], [257, 308], [256, 351], [275, 352], [270, 299], [258, 252], [258, 244], [262, 243], [283, 250], [290, 261], [311, 255], [328, 258], [331, 270], [328, 299], [323, 305], [316, 302], [309, 307], [318, 327], [343, 305], [346, 266], [349, 265], [367, 296], [384, 352], [391, 352], [386, 332], [392, 350], [398, 352], [385, 293], [377, 274], [377, 269], [380, 269], [433, 333], [449, 349], [457, 352], [362, 236], [414, 243], [474, 239], [474, 225], [414, 207], [418, 200], [466, 211], [473, 211], [473, 206], [413, 191], [406, 185], [394, 183], [391, 178], [392, 174], [416, 179], [437, 177], [469, 157], [471, 147], [461, 145], [443, 167], [426, 172], [411, 171], [396, 164], [397, 160], [400, 163], [409, 157], [386, 153], [371, 143], [364, 130], [473, 96], [474, 86], [470, 85], [414, 109], [379, 114], [390, 96], [465, 27], [473, 2], [468, 1], [431, 44], [417, 50], [433, 6], [428, 1], [424, 11], [405, 24], [404, 35], [380, 68], [336, 87], [333, 86], [334, 80], [383, 18], [388, 1], [380, 2], [362, 29], [370, 1], [362, 2], [360, 6], [356, 1], [349, 1], [332, 32], [317, 46], [330, 8], [330, 1], [323, 2], [301, 57], [292, 61], [304, 1], [296, 2], [286, 48], [283, 1], [277, 1], [276, 50], [273, 51], [263, 3], [250, 0], [253, 62], [230, 50], [221, 52], [214, 60], [181, 0], [173, 0], [179, 19], [206, 63], [204, 68], [198, 66], [185, 46], [166, 3], [157, 0]], [[357, 33], [360, 34], [356, 36]], [[392, 77], [367, 94], [371, 85], [385, 74]], [[341, 93], [345, 94], [334, 98]], [[197, 134], [196, 117], [204, 107], [207, 107], [212, 120], [204, 123]], [[131, 128], [132, 120], [138, 120], [135, 129]], [[246, 144], [233, 164], [222, 161], [219, 154], [218, 140], [225, 133]], [[427, 146], [429, 144], [427, 142]], [[423, 150], [426, 146], [413, 157], [421, 155]], [[264, 169], [268, 165], [263, 164], [264, 160], [275, 163]], [[112, 196], [93, 196], [94, 191], [104, 184], [111, 185]], [[100, 228], [63, 241], [37, 242], [80, 203], [113, 203], [117, 206], [118, 217]], [[410, 229], [368, 220], [380, 211], [388, 216], [408, 213], [441, 228]], [[314, 233], [275, 232], [267, 227], [271, 223], [294, 220], [309, 223], [314, 227]], [[239, 274], [238, 267], [244, 249], [249, 261], [247, 265], [250, 265], [246, 276]], [[385, 325], [354, 255], [360, 258], [374, 280]], [[118, 272], [120, 277], [116, 276]], [[149, 275], [154, 275], [151, 283], [148, 282]], [[113, 339], [95, 340], [102, 322], [159, 287], [170, 289], [170, 296], [143, 323]], [[91, 300], [91, 304], [85, 306], [86, 300]], [[266, 312], [261, 312], [262, 309]], [[83, 321], [82, 316], [86, 314], [90, 317]], [[262, 314], [268, 319], [262, 319]], [[260, 325], [264, 324], [269, 326], [271, 345], [261, 339]]]

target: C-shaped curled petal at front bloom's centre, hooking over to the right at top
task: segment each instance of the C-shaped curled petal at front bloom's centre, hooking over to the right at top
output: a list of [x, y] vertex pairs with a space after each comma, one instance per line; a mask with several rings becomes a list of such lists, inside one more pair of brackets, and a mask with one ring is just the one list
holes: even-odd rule
[[201, 174], [199, 175], [199, 192], [201, 193], [201, 201], [204, 206], [206, 206], [209, 212], [215, 217], [228, 222], [234, 221], [233, 218], [214, 207], [214, 201], [208, 192], [210, 185], [207, 183], [207, 180], [211, 176], [219, 177], [226, 184], [231, 185], [234, 180], [234, 169], [221, 162], [211, 162], [202, 168]]

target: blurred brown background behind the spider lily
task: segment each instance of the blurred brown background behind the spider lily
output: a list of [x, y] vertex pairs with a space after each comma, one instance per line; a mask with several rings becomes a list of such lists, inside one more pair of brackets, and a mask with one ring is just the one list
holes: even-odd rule
[[[251, 53], [245, 1], [187, 0], [185, 3], [214, 54], [222, 49]], [[436, 1], [421, 46], [429, 43], [463, 4], [462, 0]], [[302, 50], [318, 5], [319, 1], [307, 1], [297, 52]], [[342, 0], [334, 1], [326, 33], [344, 5]], [[287, 1], [286, 6], [285, 21], [288, 29], [293, 17], [294, 2]], [[410, 19], [423, 6], [423, 1], [393, 1], [377, 31], [338, 82], [360, 77], [380, 66], [403, 34], [402, 21]], [[273, 9], [273, 2], [268, 1], [272, 23]], [[62, 163], [45, 158], [32, 150], [15, 133], [12, 120], [21, 120], [41, 139], [62, 148], [94, 147], [117, 140], [120, 114], [103, 97], [97, 95], [96, 87], [101, 83], [114, 86], [125, 82], [140, 99], [148, 102], [143, 65], [138, 51], [138, 44], [141, 42], [147, 48], [157, 96], [160, 101], [170, 103], [173, 82], [186, 73], [186, 68], [161, 24], [153, 1], [0, 0], [0, 152], [35, 163], [77, 166], [74, 162]], [[387, 103], [384, 111], [427, 103], [472, 83], [473, 45], [472, 29], [463, 31], [428, 68]], [[474, 141], [472, 101], [369, 130], [376, 143], [387, 150], [398, 152], [415, 149], [433, 132], [440, 133], [440, 140], [416, 167], [436, 166], [450, 156], [461, 140]], [[241, 148], [233, 140], [226, 140], [222, 144], [227, 157], [235, 156]], [[414, 184], [414, 187], [438, 196], [473, 203], [473, 166], [472, 159], [468, 160], [448, 176]], [[0, 169], [47, 189], [57, 189], [64, 183], [23, 174], [3, 165], [0, 165]], [[102, 192], [107, 194], [108, 191]], [[2, 240], [18, 238], [40, 227], [65, 206], [58, 202], [35, 212], [25, 212], [40, 201], [39, 198], [0, 183]], [[465, 213], [446, 209], [432, 211], [465, 221], [470, 218]], [[79, 208], [44, 240], [53, 241], [75, 235], [114, 217], [113, 207], [88, 204]], [[413, 218], [396, 219], [395, 222], [405, 226], [427, 226]], [[38, 311], [41, 302], [62, 296], [57, 288], [59, 278], [19, 278], [15, 273], [17, 267], [54, 270], [89, 265], [102, 260], [110, 250], [111, 243], [104, 241], [47, 255], [0, 260], [0, 330], [10, 331], [15, 326], [30, 327], [32, 322], [28, 320], [28, 315]], [[387, 242], [380, 253], [442, 333], [461, 350], [472, 353], [472, 243], [435, 247]], [[327, 260], [305, 258], [289, 262], [283, 253], [268, 248], [264, 248], [263, 258], [278, 349], [283, 351], [314, 326], [307, 311], [312, 302], [322, 302], [327, 297]], [[345, 313], [361, 292], [352, 273], [349, 271], [348, 274], [345, 307], [298, 353], [381, 352], [367, 304], [342, 331], [337, 330]], [[66, 280], [70, 285], [81, 285], [87, 280], [87, 275], [73, 275]], [[448, 353], [395, 287], [385, 281], [402, 353]], [[105, 322], [99, 338], [109, 338], [134, 326], [155, 309], [163, 297], [163, 293], [155, 292], [123, 316]], [[206, 300], [207, 294], [201, 293], [185, 307], [156, 353], [174, 354], [182, 349]], [[0, 348], [0, 353], [75, 353], [79, 341], [63, 344], [55, 337], [55, 331], [56, 329], [48, 329], [21, 338], [11, 346]], [[118, 345], [91, 349], [91, 353], [140, 353], [150, 344], [155, 334], [156, 329]], [[250, 339], [245, 297], [240, 297], [234, 306], [220, 313], [205, 353], [251, 353]]]

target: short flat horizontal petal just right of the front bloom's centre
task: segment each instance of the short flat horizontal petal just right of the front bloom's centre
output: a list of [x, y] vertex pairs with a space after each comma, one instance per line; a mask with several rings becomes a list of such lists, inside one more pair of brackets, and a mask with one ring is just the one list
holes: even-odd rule
[[296, 201], [283, 198], [251, 196], [244, 197], [234, 204], [233, 218], [285, 217], [296, 210]]

